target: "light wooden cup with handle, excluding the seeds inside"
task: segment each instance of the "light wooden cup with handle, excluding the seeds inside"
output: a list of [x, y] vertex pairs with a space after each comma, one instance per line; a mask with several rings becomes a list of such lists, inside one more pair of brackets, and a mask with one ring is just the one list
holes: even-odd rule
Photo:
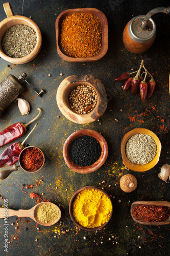
[[[5, 3], [3, 6], [4, 6], [4, 10], [7, 14], [7, 18], [2, 20], [2, 22], [0, 23], [0, 57], [10, 63], [15, 63], [15, 64], [27, 63], [27, 62], [33, 60], [40, 52], [40, 49], [42, 46], [41, 31], [38, 28], [38, 26], [36, 25], [36, 23], [33, 22], [32, 19], [25, 17], [25, 16], [14, 15], [11, 5], [9, 3]], [[20, 57], [20, 58], [12, 58], [12, 57], [7, 56], [4, 53], [3, 48], [2, 48], [2, 39], [8, 29], [10, 29], [13, 26], [19, 25], [19, 24], [31, 27], [36, 33], [37, 41], [36, 41], [35, 47], [28, 55]]]

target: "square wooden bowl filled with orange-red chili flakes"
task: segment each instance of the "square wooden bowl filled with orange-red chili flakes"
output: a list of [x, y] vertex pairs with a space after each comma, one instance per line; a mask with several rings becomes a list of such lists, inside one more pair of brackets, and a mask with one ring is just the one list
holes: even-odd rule
[[57, 52], [66, 61], [101, 59], [108, 50], [108, 22], [95, 8], [68, 9], [56, 19]]

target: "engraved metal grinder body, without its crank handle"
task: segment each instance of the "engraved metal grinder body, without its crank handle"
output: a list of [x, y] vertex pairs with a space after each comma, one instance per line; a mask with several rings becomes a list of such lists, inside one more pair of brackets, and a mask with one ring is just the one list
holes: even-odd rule
[[[27, 75], [26, 75], [27, 76]], [[19, 77], [13, 75], [7, 76], [0, 83], [0, 118], [3, 111], [25, 90], [22, 87]]]

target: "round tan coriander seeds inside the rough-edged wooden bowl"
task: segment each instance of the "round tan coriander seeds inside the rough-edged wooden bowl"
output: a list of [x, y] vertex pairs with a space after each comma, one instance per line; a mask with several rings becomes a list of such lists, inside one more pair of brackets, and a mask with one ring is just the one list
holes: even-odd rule
[[97, 101], [98, 96], [89, 84], [77, 86], [69, 95], [70, 108], [78, 114], [90, 113]]

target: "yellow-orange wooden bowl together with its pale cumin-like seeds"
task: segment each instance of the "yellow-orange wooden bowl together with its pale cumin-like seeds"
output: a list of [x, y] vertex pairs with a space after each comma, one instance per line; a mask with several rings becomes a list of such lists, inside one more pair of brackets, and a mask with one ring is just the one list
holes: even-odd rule
[[126, 167], [137, 172], [145, 172], [158, 163], [161, 142], [156, 134], [148, 129], [133, 129], [124, 136], [121, 153]]

